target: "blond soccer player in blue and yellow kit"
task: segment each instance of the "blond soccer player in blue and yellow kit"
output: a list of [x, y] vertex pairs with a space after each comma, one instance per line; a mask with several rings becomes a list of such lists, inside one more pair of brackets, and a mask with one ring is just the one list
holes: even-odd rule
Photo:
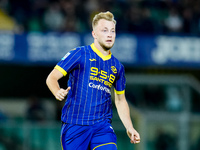
[[[110, 12], [96, 14], [92, 21], [94, 43], [68, 52], [48, 75], [46, 83], [62, 101], [61, 144], [63, 150], [116, 150], [111, 126], [111, 87], [115, 105], [131, 143], [139, 143], [125, 98], [124, 66], [112, 55], [116, 21]], [[58, 80], [69, 74], [68, 88]]]

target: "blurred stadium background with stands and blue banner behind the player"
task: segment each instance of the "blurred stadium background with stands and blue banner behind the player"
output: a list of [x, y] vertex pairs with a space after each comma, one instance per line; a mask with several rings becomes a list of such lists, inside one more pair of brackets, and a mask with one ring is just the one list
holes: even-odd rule
[[200, 149], [200, 0], [1, 0], [0, 150], [61, 149], [63, 103], [45, 80], [65, 53], [92, 42], [91, 18], [107, 10], [141, 134], [131, 145], [113, 106], [118, 149]]

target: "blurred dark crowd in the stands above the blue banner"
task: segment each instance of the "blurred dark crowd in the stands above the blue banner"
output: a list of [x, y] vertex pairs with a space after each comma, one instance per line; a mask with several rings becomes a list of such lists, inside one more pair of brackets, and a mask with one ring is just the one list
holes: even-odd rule
[[0, 30], [84, 33], [107, 10], [118, 32], [200, 35], [200, 0], [1, 0]]

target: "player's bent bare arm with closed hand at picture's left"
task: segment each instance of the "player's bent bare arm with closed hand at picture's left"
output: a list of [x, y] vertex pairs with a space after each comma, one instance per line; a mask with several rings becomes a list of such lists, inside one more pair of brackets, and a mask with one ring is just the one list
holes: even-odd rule
[[60, 88], [58, 80], [61, 79], [64, 75], [57, 69], [53, 69], [46, 79], [46, 84], [55, 98], [59, 101], [62, 101], [65, 96], [68, 94], [70, 87], [67, 89]]

